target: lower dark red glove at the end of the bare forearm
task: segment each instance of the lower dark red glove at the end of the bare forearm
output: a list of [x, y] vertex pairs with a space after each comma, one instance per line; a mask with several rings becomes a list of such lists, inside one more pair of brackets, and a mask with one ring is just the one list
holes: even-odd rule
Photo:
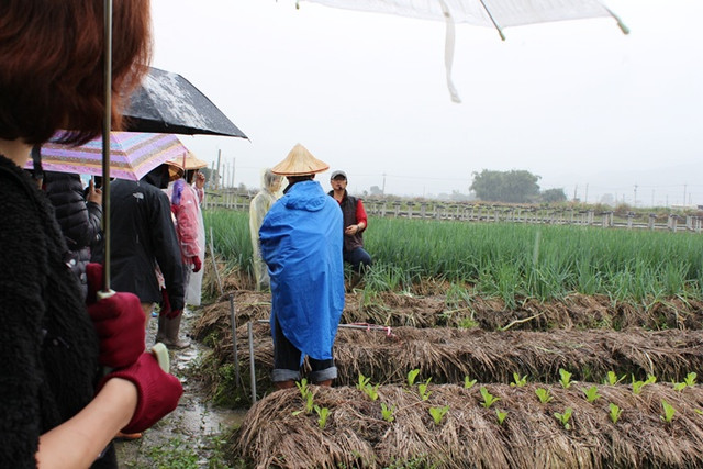
[[132, 381], [137, 390], [137, 404], [124, 433], [144, 432], [178, 405], [183, 387], [178, 378], [164, 372], [152, 354], [142, 354], [137, 361], [124, 369], [105, 376], [98, 390], [111, 378]]

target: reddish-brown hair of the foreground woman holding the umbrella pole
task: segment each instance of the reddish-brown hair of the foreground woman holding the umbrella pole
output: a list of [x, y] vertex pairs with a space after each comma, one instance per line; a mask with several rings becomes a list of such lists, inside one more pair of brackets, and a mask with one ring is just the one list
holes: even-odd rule
[[[0, 138], [46, 142], [57, 130], [67, 143], [102, 132], [103, 1], [0, 2]], [[150, 59], [148, 0], [114, 0], [112, 122]]]

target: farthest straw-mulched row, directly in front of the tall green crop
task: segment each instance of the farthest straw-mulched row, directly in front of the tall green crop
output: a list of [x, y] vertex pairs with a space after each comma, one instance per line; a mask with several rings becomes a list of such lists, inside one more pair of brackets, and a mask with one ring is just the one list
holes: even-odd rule
[[[232, 291], [239, 323], [267, 320], [270, 293]], [[227, 315], [227, 295], [205, 308], [205, 316]], [[347, 293], [343, 323], [373, 323], [391, 327], [468, 327], [486, 331], [550, 331], [554, 328], [648, 330], [703, 328], [703, 302], [671, 298], [648, 305], [613, 301], [606, 297], [570, 294], [563, 300], [518, 301], [513, 309], [500, 299], [471, 297], [453, 300], [446, 294], [412, 295], [390, 292]], [[214, 324], [210, 324], [214, 327]], [[204, 334], [207, 332], [203, 331]]]

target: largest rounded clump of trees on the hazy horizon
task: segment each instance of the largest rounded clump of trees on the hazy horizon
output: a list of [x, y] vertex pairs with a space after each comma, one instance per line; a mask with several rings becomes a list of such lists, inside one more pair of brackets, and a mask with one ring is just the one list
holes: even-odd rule
[[483, 201], [526, 203], [539, 198], [539, 176], [525, 170], [473, 172], [469, 190]]

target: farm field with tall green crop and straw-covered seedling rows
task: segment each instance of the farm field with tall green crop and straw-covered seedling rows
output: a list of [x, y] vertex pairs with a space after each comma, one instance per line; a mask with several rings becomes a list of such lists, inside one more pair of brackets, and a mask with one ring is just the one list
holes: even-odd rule
[[335, 386], [274, 393], [270, 295], [250, 288], [247, 216], [205, 217], [219, 279], [209, 269], [215, 300], [193, 335], [212, 347], [211, 399], [249, 407], [232, 460], [703, 467], [700, 235], [371, 219], [376, 264], [347, 279]]

